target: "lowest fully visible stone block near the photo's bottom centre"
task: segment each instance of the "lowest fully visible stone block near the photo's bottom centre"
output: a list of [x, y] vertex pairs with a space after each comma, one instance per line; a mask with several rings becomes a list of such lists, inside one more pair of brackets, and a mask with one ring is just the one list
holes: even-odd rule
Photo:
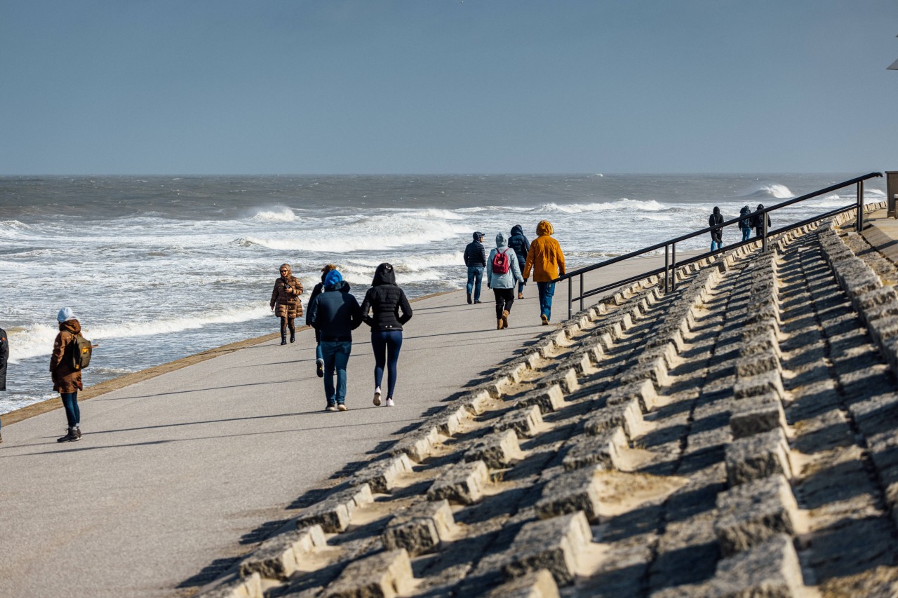
[[578, 556], [592, 540], [582, 512], [527, 523], [508, 550], [511, 558], [503, 573], [518, 577], [545, 568], [556, 583], [570, 585], [577, 576]]

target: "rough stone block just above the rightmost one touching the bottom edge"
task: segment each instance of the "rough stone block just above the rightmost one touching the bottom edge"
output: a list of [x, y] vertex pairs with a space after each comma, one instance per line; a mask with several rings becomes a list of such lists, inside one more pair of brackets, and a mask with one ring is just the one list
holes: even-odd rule
[[782, 475], [755, 479], [721, 492], [714, 525], [720, 550], [729, 556], [779, 533], [794, 535], [797, 512], [795, 495]]

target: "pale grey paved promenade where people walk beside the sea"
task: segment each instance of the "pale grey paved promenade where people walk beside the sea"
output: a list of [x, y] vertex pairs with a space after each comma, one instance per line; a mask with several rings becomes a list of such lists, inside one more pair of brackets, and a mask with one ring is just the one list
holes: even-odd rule
[[[605, 269], [603, 280], [638, 273]], [[365, 287], [356, 291], [360, 299]], [[295, 514], [305, 493], [544, 332], [536, 286], [524, 293], [501, 331], [485, 286], [480, 305], [465, 304], [463, 292], [414, 302], [394, 408], [371, 403], [363, 325], [344, 413], [322, 410], [313, 333], [304, 330], [293, 345], [262, 342], [82, 401], [78, 443], [57, 444], [61, 409], [4, 426], [0, 595], [191, 594]], [[559, 285], [553, 326], [566, 315]], [[84, 380], [89, 387], [89, 370]]]

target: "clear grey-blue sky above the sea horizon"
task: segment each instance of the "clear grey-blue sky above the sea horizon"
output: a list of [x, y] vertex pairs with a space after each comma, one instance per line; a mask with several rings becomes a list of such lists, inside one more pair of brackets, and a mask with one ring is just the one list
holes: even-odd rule
[[0, 0], [0, 173], [898, 170], [898, 3]]

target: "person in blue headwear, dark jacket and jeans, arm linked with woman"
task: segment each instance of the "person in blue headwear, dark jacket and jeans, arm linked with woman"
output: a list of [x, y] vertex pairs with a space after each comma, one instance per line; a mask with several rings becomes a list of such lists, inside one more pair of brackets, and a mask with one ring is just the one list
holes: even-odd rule
[[[325, 411], [346, 411], [346, 366], [352, 352], [352, 331], [362, 323], [362, 307], [349, 293], [349, 283], [339, 270], [324, 277], [324, 290], [309, 303], [309, 321], [321, 332], [324, 359]], [[334, 373], [337, 386], [334, 387]]]

